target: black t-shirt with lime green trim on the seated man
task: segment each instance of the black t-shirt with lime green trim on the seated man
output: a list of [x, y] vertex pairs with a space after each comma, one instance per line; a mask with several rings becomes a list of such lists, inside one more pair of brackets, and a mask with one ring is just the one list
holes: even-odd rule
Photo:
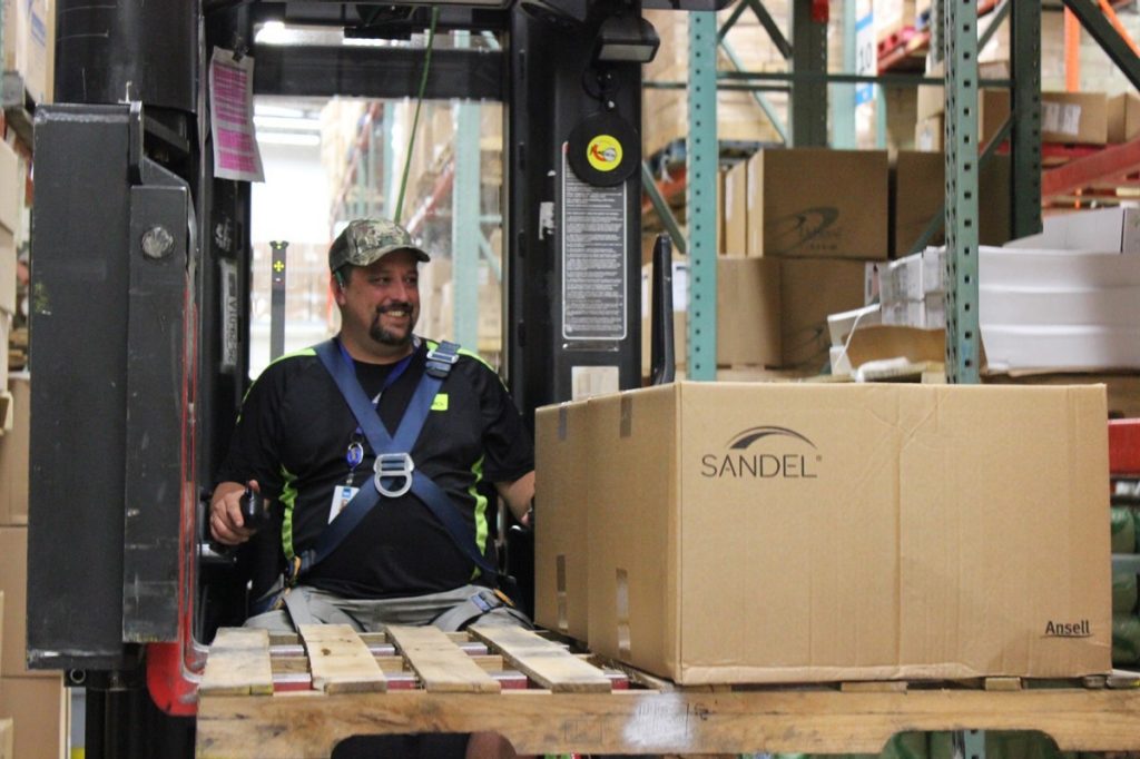
[[[394, 434], [423, 375], [427, 344], [381, 393], [380, 416]], [[356, 362], [369, 398], [391, 366]], [[256, 480], [261, 492], [284, 507], [285, 556], [311, 547], [328, 524], [334, 491], [348, 482], [349, 446], [359, 440], [364, 460], [351, 471], [353, 487], [373, 475], [373, 454], [328, 370], [312, 349], [285, 356], [261, 374], [242, 406], [222, 481]], [[417, 471], [450, 497], [487, 553], [487, 500], [477, 483], [510, 482], [534, 468], [534, 446], [498, 375], [463, 352], [443, 381], [412, 449]], [[381, 498], [343, 542], [304, 577], [304, 582], [350, 598], [414, 596], [459, 587], [478, 576], [447, 529], [410, 492]]]

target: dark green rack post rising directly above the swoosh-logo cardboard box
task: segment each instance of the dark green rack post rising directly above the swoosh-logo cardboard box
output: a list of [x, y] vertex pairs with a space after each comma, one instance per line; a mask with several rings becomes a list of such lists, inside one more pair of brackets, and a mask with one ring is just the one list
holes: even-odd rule
[[[792, 71], [826, 74], [828, 25], [815, 21], [813, 0], [793, 0]], [[796, 81], [791, 92], [791, 144], [796, 147], [828, 145], [826, 80]]]

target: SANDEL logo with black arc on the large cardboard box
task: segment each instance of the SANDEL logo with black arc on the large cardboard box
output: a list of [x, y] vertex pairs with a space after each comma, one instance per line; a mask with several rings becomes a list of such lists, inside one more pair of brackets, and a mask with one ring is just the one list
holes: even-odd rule
[[701, 476], [714, 480], [815, 480], [823, 462], [819, 447], [790, 427], [741, 430], [724, 452], [701, 456]]

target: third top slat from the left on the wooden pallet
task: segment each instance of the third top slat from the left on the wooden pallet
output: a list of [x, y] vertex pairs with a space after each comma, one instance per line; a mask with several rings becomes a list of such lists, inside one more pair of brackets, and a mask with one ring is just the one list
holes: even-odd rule
[[435, 627], [388, 627], [388, 637], [437, 693], [498, 693], [499, 684]]

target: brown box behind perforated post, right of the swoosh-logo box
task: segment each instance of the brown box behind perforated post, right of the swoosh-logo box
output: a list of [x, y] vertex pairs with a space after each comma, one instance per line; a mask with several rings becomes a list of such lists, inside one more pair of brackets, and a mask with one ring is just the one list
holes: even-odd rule
[[[930, 223], [942, 210], [945, 215], [946, 163], [939, 153], [899, 150], [895, 157], [891, 181], [890, 255], [912, 253]], [[978, 171], [978, 237], [983, 245], [1001, 245], [1010, 237], [1010, 161], [995, 155]], [[929, 245], [945, 242], [945, 225], [928, 240]]]

